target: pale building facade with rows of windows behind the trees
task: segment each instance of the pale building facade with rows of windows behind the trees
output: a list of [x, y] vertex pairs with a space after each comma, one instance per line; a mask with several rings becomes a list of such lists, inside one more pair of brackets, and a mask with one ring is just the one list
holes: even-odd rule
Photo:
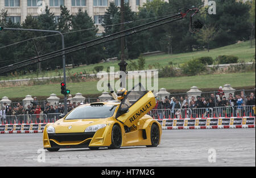
[[[129, 2], [131, 10], [138, 11], [146, 1], [152, 0], [125, 0]], [[168, 2], [168, 0], [163, 0]], [[109, 3], [115, 2], [120, 5], [121, 0], [0, 0], [0, 10], [5, 9], [8, 13], [8, 19], [15, 23], [21, 23], [27, 15], [38, 16], [40, 7], [48, 6], [56, 18], [60, 15], [60, 6], [66, 6], [71, 14], [75, 15], [79, 9], [87, 11], [96, 24], [101, 24]]]

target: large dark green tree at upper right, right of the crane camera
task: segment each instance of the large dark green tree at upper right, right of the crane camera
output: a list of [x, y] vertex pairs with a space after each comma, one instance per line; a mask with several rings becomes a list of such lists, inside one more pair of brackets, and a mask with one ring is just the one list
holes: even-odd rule
[[236, 43], [238, 40], [249, 40], [250, 5], [236, 0], [216, 0], [216, 15], [207, 15], [205, 22], [215, 24], [218, 31], [212, 47], [221, 47]]

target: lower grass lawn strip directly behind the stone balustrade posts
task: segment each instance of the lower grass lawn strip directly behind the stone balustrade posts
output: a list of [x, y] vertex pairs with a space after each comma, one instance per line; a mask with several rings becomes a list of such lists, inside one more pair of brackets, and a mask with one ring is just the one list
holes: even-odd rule
[[[172, 78], [159, 78], [159, 89], [187, 89], [191, 86], [197, 86], [199, 89], [203, 88], [216, 88], [230, 84], [233, 88], [242, 86], [254, 86], [255, 85], [255, 72], [246, 73], [228, 73], [228, 74], [207, 74], [202, 76], [192, 77], [172, 77]], [[82, 94], [98, 94], [97, 82], [79, 82], [68, 83], [67, 88], [71, 90], [72, 96], [76, 93]], [[8, 96], [9, 98], [25, 97], [30, 94], [31, 96], [49, 96], [52, 93], [61, 96], [60, 84], [49, 85], [35, 85], [35, 86], [16, 86], [12, 88], [0, 88], [0, 98]]]

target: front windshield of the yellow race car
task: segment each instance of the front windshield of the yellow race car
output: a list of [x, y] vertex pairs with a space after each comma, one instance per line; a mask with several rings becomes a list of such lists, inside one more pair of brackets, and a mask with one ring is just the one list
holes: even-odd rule
[[98, 119], [112, 117], [115, 105], [90, 105], [76, 107], [65, 119]]

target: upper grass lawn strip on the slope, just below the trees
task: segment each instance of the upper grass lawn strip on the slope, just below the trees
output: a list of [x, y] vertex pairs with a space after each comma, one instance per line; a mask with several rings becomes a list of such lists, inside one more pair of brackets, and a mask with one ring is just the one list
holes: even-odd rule
[[[155, 63], [159, 63], [160, 67], [163, 67], [171, 61], [172, 63], [177, 65], [177, 64], [185, 63], [186, 61], [192, 58], [210, 56], [210, 57], [213, 57], [213, 59], [215, 59], [219, 55], [234, 55], [239, 57], [240, 60], [251, 61], [253, 60], [253, 56], [255, 55], [255, 48], [250, 48], [250, 42], [247, 41], [239, 44], [228, 45], [226, 47], [212, 49], [210, 50], [210, 52], [196, 51], [196, 52], [180, 53], [176, 55], [147, 56], [145, 57], [146, 58], [145, 66], [146, 66], [146, 69], [148, 69], [149, 64], [152, 65]], [[114, 66], [115, 69], [117, 69], [118, 71], [119, 70], [118, 63], [119, 61], [110, 62], [110, 63], [91, 64], [91, 65], [86, 65], [86, 66], [82, 66], [74, 69], [67, 69], [67, 70], [69, 70], [70, 73], [80, 73], [84, 71], [88, 73], [93, 73], [92, 71], [95, 66], [102, 65], [104, 66], [105, 71], [110, 66]], [[59, 72], [59, 73], [63, 75], [63, 72]], [[47, 73], [44, 72], [42, 74], [39, 74], [39, 77], [49, 77], [49, 76], [58, 76], [58, 72], [48, 71]], [[36, 73], [26, 74], [18, 77], [0, 77], [0, 80], [13, 80], [17, 78], [34, 78], [34, 77], [37, 77]]]

